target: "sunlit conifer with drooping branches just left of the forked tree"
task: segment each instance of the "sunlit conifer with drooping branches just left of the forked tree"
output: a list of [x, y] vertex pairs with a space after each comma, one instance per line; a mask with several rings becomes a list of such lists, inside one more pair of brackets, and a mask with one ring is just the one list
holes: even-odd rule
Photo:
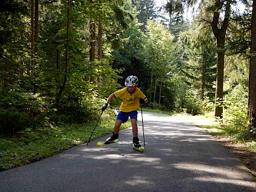
[[181, 33], [179, 40], [188, 56], [182, 68], [186, 81], [200, 90], [200, 100], [204, 100], [205, 92], [212, 93], [212, 82], [216, 78], [214, 36], [209, 28], [200, 25]]

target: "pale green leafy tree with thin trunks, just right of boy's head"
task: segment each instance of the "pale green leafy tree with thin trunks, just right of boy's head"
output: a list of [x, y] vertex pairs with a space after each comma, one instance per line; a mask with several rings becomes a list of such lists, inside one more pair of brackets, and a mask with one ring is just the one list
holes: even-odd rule
[[[153, 102], [157, 102], [158, 100], [158, 104], [160, 105], [163, 82], [166, 74], [171, 71], [173, 65], [174, 36], [163, 24], [154, 20], [148, 20], [146, 29], [145, 61], [151, 70], [150, 89], [148, 90], [148, 94], [150, 95], [149, 100], [152, 101], [153, 94]], [[154, 88], [152, 87], [153, 84]], [[156, 99], [157, 95], [158, 99]]]

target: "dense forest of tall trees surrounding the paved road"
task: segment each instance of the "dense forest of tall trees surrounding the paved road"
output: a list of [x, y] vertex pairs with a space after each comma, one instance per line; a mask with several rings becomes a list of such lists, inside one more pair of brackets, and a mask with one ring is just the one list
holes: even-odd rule
[[1, 1], [0, 136], [92, 122], [135, 75], [145, 107], [255, 137], [255, 2]]

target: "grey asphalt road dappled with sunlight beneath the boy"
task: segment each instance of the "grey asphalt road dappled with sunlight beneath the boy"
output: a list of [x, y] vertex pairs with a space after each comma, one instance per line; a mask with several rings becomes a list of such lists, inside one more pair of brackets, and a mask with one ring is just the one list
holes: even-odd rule
[[118, 143], [96, 147], [105, 136], [0, 172], [0, 191], [256, 191], [247, 168], [203, 129], [147, 112], [143, 122], [143, 153], [125, 129]]

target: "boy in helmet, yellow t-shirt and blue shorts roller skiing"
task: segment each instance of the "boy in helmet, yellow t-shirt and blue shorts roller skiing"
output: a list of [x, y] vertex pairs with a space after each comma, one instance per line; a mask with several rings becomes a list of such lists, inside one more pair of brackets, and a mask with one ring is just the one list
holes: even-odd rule
[[125, 88], [122, 90], [118, 90], [114, 93], [111, 93], [106, 101], [106, 104], [102, 106], [102, 111], [104, 111], [109, 102], [114, 97], [122, 97], [122, 103], [120, 105], [120, 111], [116, 117], [116, 123], [113, 131], [113, 135], [106, 140], [105, 143], [113, 143], [114, 140], [118, 138], [118, 132], [120, 130], [120, 126], [127, 122], [128, 118], [131, 118], [132, 124], [132, 134], [133, 134], [133, 144], [135, 147], [141, 147], [138, 138], [138, 127], [137, 127], [137, 116], [138, 109], [140, 108], [140, 104], [146, 104], [148, 102], [147, 97], [141, 92], [141, 90], [137, 87], [139, 83], [138, 77], [129, 76], [125, 79]]

